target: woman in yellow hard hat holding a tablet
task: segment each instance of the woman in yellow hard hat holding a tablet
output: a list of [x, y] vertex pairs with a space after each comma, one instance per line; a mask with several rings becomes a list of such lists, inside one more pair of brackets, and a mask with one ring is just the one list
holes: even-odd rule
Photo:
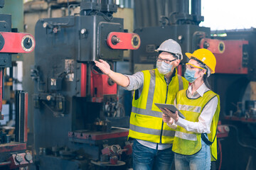
[[210, 90], [208, 77], [215, 73], [216, 60], [212, 52], [199, 49], [186, 53], [190, 59], [184, 77], [191, 82], [188, 89], [178, 91], [175, 104], [185, 119], [167, 108], [164, 123], [176, 125], [173, 151], [176, 169], [210, 169], [217, 159], [216, 128], [220, 113], [220, 98]]

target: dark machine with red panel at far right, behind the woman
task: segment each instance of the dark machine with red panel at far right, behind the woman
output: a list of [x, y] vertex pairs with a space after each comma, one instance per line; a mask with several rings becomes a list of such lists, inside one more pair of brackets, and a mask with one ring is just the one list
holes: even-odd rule
[[[256, 30], [213, 31], [213, 35], [225, 43], [223, 54], [216, 55], [220, 64], [212, 77], [222, 103], [220, 119], [230, 128], [229, 137], [222, 142], [223, 168], [232, 164], [232, 169], [255, 169]], [[240, 157], [230, 162], [228, 158], [234, 154]]]

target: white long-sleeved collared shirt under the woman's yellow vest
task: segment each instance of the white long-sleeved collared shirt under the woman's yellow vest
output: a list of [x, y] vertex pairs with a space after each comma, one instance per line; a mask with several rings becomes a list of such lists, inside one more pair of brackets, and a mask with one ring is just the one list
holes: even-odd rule
[[[191, 86], [188, 87], [187, 96], [188, 98], [198, 98], [203, 96], [203, 94], [208, 91], [206, 84], [202, 84], [194, 94], [192, 94]], [[174, 101], [176, 104], [176, 100]], [[179, 125], [182, 128], [185, 128], [187, 131], [196, 132], [196, 133], [210, 133], [210, 124], [213, 120], [213, 115], [216, 111], [218, 105], [218, 98], [215, 96], [210, 100], [206, 106], [203, 108], [201, 115], [198, 118], [198, 122], [191, 122], [183, 118], [178, 118], [178, 121], [174, 125]], [[167, 124], [169, 125], [169, 123]], [[174, 125], [169, 125], [171, 128], [174, 128]]]

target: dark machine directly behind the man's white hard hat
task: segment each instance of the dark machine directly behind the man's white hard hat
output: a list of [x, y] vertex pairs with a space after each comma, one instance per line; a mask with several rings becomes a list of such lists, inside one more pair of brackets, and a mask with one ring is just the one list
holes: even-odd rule
[[[169, 6], [172, 10], [169, 11], [170, 17], [162, 16], [161, 26], [134, 30], [134, 33], [137, 33], [142, 40], [139, 50], [132, 52], [132, 70], [134, 72], [155, 67], [158, 53], [154, 50], [166, 39], [176, 40], [185, 53], [198, 49], [201, 38], [210, 38], [210, 28], [198, 26], [203, 21], [201, 1], [191, 1], [191, 14], [189, 14], [188, 0], [172, 0], [169, 1]], [[182, 62], [187, 61], [187, 57], [184, 57]], [[178, 67], [178, 73], [182, 74], [184, 68], [184, 64], [181, 64]]]

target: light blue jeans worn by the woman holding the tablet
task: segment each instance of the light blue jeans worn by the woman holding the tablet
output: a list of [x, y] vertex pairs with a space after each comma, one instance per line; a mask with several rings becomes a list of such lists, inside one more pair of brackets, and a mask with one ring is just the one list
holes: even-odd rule
[[174, 154], [176, 170], [210, 170], [210, 146], [203, 140], [201, 150], [193, 155]]

